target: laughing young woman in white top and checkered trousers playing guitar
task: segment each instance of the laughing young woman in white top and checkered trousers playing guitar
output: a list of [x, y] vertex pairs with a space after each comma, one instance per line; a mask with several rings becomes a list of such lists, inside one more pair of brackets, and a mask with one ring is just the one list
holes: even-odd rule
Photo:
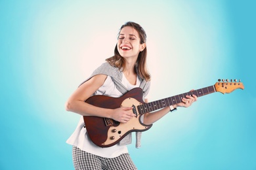
[[[143, 99], [150, 89], [150, 74], [146, 69], [146, 33], [135, 22], [121, 26], [114, 56], [98, 67], [93, 74], [80, 84], [66, 103], [66, 110], [81, 114], [79, 124], [67, 143], [73, 145], [72, 156], [75, 169], [137, 169], [129, 156], [126, 144], [131, 143], [131, 134], [114, 146], [101, 148], [89, 138], [83, 116], [111, 118], [127, 123], [135, 114], [133, 107], [104, 109], [85, 103], [91, 95], [121, 97], [129, 90], [140, 87]], [[156, 112], [144, 114], [144, 124], [153, 124], [172, 109], [189, 107], [197, 100], [196, 95], [186, 96], [182, 103], [165, 107]], [[140, 133], [137, 133], [137, 147], [140, 146]]]

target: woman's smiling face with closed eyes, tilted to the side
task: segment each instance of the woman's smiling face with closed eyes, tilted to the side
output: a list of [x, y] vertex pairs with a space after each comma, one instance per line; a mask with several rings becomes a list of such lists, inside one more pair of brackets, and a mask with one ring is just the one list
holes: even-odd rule
[[119, 33], [117, 50], [123, 58], [138, 58], [146, 44], [140, 44], [139, 33], [133, 27], [123, 27]]

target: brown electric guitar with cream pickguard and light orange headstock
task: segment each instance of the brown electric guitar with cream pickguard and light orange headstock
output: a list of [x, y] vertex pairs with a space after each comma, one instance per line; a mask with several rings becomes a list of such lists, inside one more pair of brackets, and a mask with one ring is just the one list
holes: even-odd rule
[[101, 118], [97, 116], [83, 116], [87, 133], [89, 137], [96, 145], [100, 147], [114, 146], [119, 143], [123, 137], [133, 131], [146, 131], [152, 127], [151, 125], [143, 124], [140, 120], [142, 114], [152, 112], [154, 110], [169, 107], [181, 103], [181, 99], [186, 95], [196, 95], [201, 97], [214, 92], [230, 93], [236, 89], [244, 89], [244, 84], [237, 80], [221, 80], [216, 82], [213, 86], [200, 88], [191, 92], [174, 95], [158, 101], [152, 101], [150, 103], [144, 103], [142, 99], [142, 89], [134, 88], [125, 93], [121, 97], [108, 97], [105, 95], [94, 95], [89, 97], [85, 102], [96, 107], [102, 107], [106, 109], [116, 109], [119, 107], [133, 107], [132, 112], [135, 114], [131, 120], [127, 123], [120, 123], [110, 118]]

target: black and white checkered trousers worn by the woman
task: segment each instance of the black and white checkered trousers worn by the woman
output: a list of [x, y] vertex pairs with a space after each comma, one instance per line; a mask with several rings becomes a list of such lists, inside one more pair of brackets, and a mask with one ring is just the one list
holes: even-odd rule
[[75, 170], [100, 170], [100, 169], [112, 169], [112, 170], [133, 170], [137, 169], [131, 157], [128, 153], [121, 154], [116, 158], [102, 158], [94, 154], [85, 152], [76, 146], [73, 146], [72, 157]]

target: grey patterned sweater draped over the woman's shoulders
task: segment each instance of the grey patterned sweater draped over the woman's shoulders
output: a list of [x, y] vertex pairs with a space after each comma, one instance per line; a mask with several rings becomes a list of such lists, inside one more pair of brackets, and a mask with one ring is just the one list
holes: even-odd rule
[[[102, 63], [102, 65], [100, 65], [100, 67], [95, 69], [93, 74], [89, 78], [87, 78], [85, 81], [83, 81], [81, 84], [83, 84], [84, 82], [86, 82], [87, 80], [92, 78], [93, 76], [100, 75], [100, 74], [111, 76], [111, 78], [112, 78], [114, 84], [116, 85], [117, 90], [119, 90], [119, 92], [121, 92], [123, 94], [128, 92], [128, 90], [125, 88], [125, 86], [123, 86], [123, 84], [121, 83], [122, 78], [123, 78], [123, 73], [117, 67], [110, 65], [110, 63], [108, 63], [108, 62]], [[140, 80], [140, 88], [143, 90], [143, 100], [144, 100], [150, 90], [150, 82], [146, 82], [146, 80], [142, 80], [142, 78], [140, 76], [139, 76], [139, 80]], [[81, 84], [79, 86], [81, 86]], [[142, 116], [142, 119], [143, 119], [143, 117], [144, 116]], [[142, 120], [142, 122], [143, 122], [143, 120]], [[142, 132], [140, 132], [140, 131], [136, 132], [136, 148], [140, 148], [140, 146], [141, 146], [141, 144], [140, 144], [141, 135], [142, 135]], [[132, 134], [129, 133], [120, 141], [120, 144], [127, 145], [127, 144], [131, 144], [131, 142], [132, 142]]]

